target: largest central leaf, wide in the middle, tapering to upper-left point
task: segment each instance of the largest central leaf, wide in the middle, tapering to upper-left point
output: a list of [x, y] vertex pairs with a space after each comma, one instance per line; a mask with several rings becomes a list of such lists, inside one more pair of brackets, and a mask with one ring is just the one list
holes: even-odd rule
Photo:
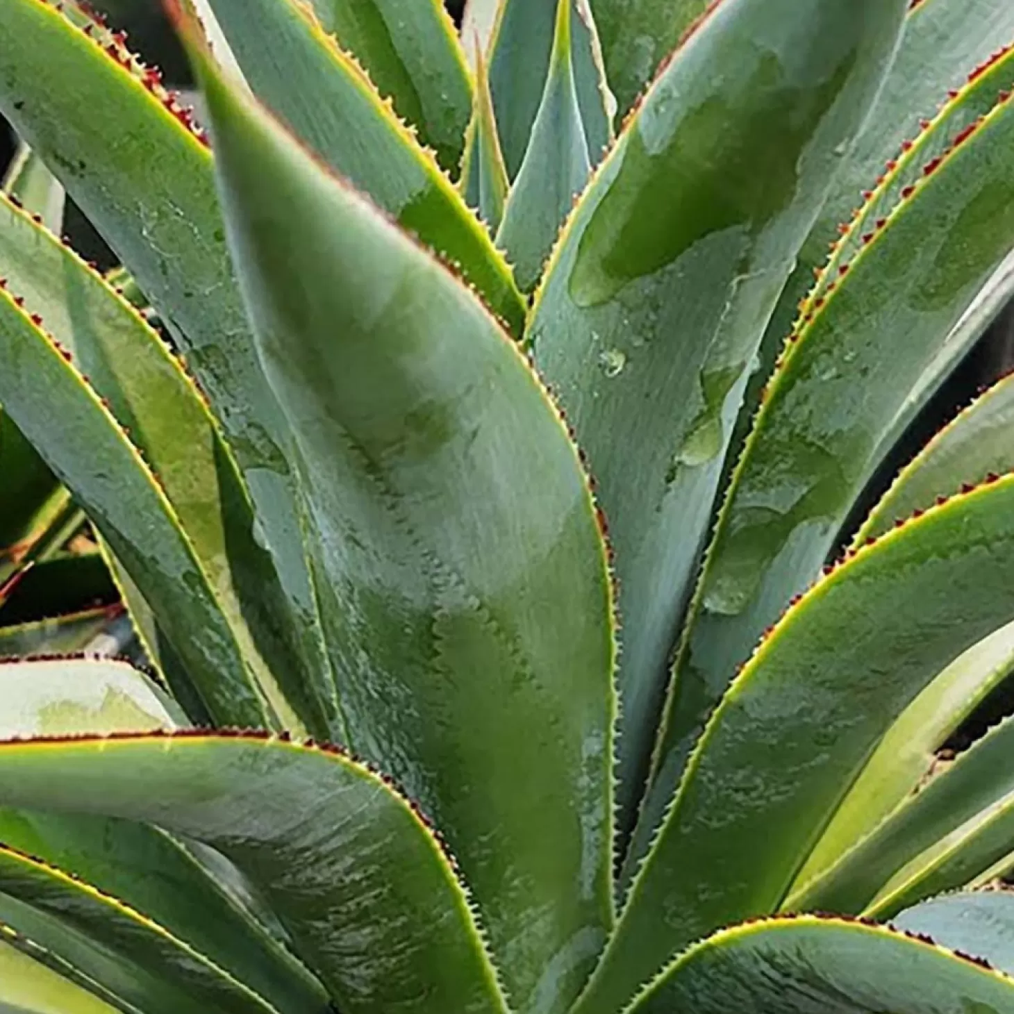
[[576, 448], [474, 295], [198, 64], [353, 746], [446, 836], [516, 1008], [563, 1010], [611, 920], [611, 601]]

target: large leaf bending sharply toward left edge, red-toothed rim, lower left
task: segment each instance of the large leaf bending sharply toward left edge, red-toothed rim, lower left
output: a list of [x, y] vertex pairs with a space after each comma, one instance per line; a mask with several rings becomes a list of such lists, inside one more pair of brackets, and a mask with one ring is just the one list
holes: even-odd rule
[[343, 1012], [505, 1014], [436, 839], [337, 751], [212, 733], [6, 743], [0, 799], [214, 846], [264, 891]]

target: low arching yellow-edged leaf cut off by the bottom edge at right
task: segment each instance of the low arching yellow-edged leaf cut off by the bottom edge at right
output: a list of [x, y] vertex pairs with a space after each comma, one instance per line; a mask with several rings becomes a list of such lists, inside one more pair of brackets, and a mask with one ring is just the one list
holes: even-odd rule
[[[994, 933], [1003, 937], [1001, 927]], [[803, 916], [716, 933], [674, 961], [630, 1014], [1010, 1014], [1014, 983], [879, 926]]]

